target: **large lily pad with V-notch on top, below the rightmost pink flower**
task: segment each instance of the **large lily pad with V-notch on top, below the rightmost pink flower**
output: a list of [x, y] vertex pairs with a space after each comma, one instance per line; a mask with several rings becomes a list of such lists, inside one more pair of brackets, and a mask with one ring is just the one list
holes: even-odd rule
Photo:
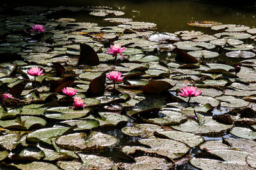
[[196, 122], [196, 120], [188, 119], [184, 124], [175, 125], [172, 126], [172, 128], [182, 132], [191, 132], [205, 136], [218, 136], [221, 132], [226, 132], [233, 127], [232, 125], [220, 124], [213, 120], [212, 117], [207, 117], [200, 113], [196, 115], [199, 118], [199, 123]]

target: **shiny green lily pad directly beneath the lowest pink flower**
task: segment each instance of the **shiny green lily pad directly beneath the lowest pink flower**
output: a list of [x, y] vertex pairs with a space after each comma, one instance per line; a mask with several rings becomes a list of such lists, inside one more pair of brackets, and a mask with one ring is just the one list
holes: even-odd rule
[[45, 110], [45, 117], [60, 119], [60, 120], [67, 120], [67, 119], [84, 117], [90, 111], [91, 111], [91, 108], [84, 108], [83, 110], [74, 110], [73, 108], [68, 108], [68, 107], [49, 108]]

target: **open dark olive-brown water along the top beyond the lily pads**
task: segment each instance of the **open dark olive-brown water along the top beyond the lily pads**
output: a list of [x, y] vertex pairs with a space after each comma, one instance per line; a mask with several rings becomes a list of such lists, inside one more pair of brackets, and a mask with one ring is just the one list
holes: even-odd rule
[[[181, 30], [200, 30], [187, 25], [188, 22], [213, 20], [223, 24], [242, 24], [255, 27], [256, 3], [253, 1], [206, 1], [206, 0], [160, 0], [160, 1], [120, 1], [120, 0], [73, 0], [73, 1], [8, 1], [2, 4], [10, 6], [110, 6], [114, 10], [124, 11], [124, 18], [134, 21], [154, 22], [159, 32]], [[96, 22], [102, 18], [85, 17], [83, 13], [66, 16], [76, 18], [77, 22]], [[204, 31], [207, 32], [207, 29]]]

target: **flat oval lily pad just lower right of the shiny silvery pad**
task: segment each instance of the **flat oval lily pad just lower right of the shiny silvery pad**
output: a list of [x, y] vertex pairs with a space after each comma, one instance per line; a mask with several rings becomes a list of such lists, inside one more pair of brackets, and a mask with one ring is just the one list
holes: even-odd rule
[[194, 41], [181, 41], [181, 42], [174, 43], [173, 45], [176, 45], [177, 48], [181, 50], [202, 50], [202, 47], [207, 49], [215, 48], [215, 45], [212, 45], [211, 43], [194, 42]]

